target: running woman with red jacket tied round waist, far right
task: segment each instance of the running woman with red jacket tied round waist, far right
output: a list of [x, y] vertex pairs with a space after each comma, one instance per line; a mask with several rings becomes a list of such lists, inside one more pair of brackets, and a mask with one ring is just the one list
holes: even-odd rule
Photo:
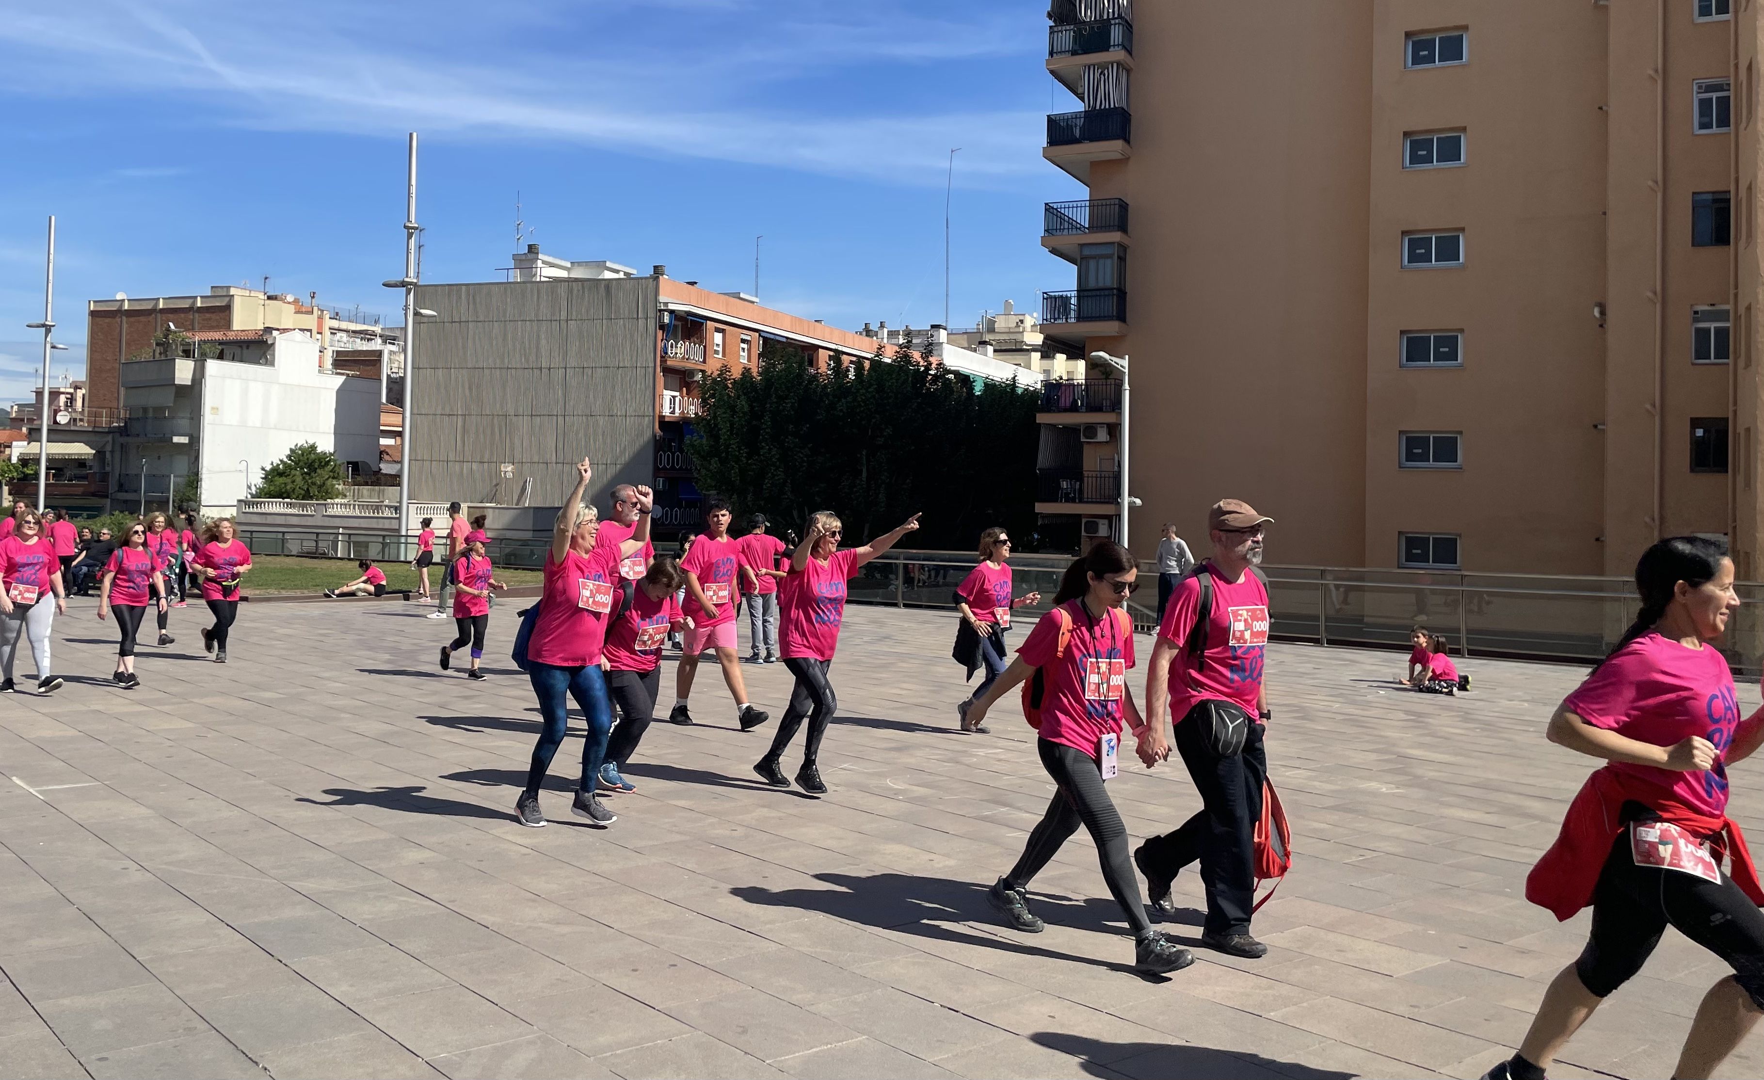
[[1736, 972], [1704, 995], [1674, 1076], [1713, 1073], [1764, 1015], [1764, 889], [1727, 817], [1727, 768], [1764, 743], [1764, 709], [1739, 718], [1713, 644], [1739, 607], [1727, 544], [1660, 540], [1635, 565], [1635, 623], [1549, 722], [1549, 741], [1611, 764], [1581, 787], [1526, 879], [1526, 898], [1558, 919], [1591, 904], [1591, 937], [1549, 985], [1519, 1054], [1489, 1069], [1498, 1080], [1542, 1080], [1669, 925]]

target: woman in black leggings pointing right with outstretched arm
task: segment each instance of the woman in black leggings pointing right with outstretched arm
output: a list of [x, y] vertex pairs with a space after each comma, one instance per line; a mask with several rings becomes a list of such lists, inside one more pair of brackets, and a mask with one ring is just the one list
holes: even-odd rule
[[[773, 748], [766, 752], [753, 771], [773, 787], [790, 787], [783, 769], [783, 752], [796, 738], [796, 729], [808, 716], [808, 743], [803, 748], [803, 768], [796, 773], [797, 785], [811, 796], [827, 794], [827, 785], [820, 780], [820, 739], [827, 734], [833, 711], [840, 708], [827, 681], [827, 667], [833, 665], [833, 651], [840, 644], [840, 623], [845, 619], [845, 582], [857, 575], [857, 568], [894, 547], [901, 536], [919, 528], [919, 515], [914, 514], [907, 524], [893, 533], [884, 533], [863, 547], [840, 551], [840, 536], [845, 528], [840, 519], [827, 510], [808, 517], [803, 542], [790, 556], [790, 568], [778, 586], [778, 612], [783, 632], [778, 635], [778, 651], [783, 665], [796, 676], [796, 688], [790, 690], [790, 706], [778, 720], [778, 734], [773, 736]], [[760, 713], [755, 724], [748, 724], [748, 715], [741, 716], [741, 731], [751, 731], [766, 716]]]

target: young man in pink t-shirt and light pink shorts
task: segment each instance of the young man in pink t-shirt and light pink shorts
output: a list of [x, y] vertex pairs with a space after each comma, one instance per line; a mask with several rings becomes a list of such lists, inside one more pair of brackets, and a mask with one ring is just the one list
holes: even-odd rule
[[704, 508], [706, 531], [691, 542], [691, 551], [681, 559], [679, 568], [686, 572], [686, 649], [679, 656], [679, 669], [674, 672], [674, 709], [669, 720], [674, 724], [691, 724], [686, 711], [686, 699], [691, 695], [691, 679], [699, 672], [699, 656], [706, 649], [716, 653], [716, 664], [723, 669], [723, 683], [729, 685], [730, 697], [736, 699], [736, 722], [746, 731], [766, 724], [771, 716], [748, 704], [748, 685], [741, 678], [741, 660], [736, 656], [736, 574], [741, 568], [741, 552], [729, 536], [729, 522], [734, 515], [723, 499], [709, 499]]

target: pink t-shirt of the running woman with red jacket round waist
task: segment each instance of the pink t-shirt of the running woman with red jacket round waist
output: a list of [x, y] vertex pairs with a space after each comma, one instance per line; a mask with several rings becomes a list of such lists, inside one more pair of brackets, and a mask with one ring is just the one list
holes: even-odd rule
[[1702, 736], [1715, 746], [1709, 769], [1683, 773], [1616, 761], [1605, 768], [1658, 789], [1662, 801], [1679, 801], [1711, 817], [1727, 812], [1725, 759], [1739, 725], [1739, 699], [1727, 658], [1715, 646], [1690, 649], [1660, 634], [1642, 634], [1586, 676], [1561, 706], [1637, 743], [1671, 746]]

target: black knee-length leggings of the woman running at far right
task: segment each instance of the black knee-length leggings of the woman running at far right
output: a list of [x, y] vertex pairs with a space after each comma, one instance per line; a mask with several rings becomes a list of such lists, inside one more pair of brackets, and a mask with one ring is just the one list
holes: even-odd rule
[[1593, 891], [1593, 934], [1573, 962], [1581, 985], [1609, 997], [1642, 969], [1667, 925], [1725, 960], [1764, 1009], [1764, 912], [1725, 874], [1715, 884], [1683, 870], [1637, 866], [1625, 828]]

